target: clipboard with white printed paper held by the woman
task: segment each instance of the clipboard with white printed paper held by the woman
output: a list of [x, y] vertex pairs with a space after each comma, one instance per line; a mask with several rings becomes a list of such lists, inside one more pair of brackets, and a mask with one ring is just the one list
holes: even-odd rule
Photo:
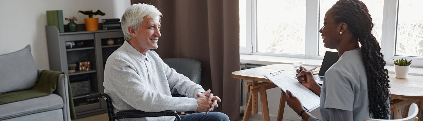
[[313, 111], [314, 109], [320, 107], [320, 97], [308, 88], [305, 88], [305, 86], [298, 82], [292, 74], [280, 70], [266, 74], [264, 77], [279, 87], [283, 93], [286, 93], [287, 89], [291, 91], [291, 93], [299, 99], [306, 110]]

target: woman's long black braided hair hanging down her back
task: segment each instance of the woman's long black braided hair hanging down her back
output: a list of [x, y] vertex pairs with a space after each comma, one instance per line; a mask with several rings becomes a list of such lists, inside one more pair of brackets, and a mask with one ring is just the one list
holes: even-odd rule
[[367, 6], [359, 0], [339, 0], [332, 6], [335, 23], [345, 22], [352, 31], [353, 37], [361, 44], [363, 63], [367, 74], [367, 91], [369, 98], [369, 116], [371, 118], [388, 119], [390, 88], [388, 70], [380, 52], [379, 42], [371, 33], [372, 18]]

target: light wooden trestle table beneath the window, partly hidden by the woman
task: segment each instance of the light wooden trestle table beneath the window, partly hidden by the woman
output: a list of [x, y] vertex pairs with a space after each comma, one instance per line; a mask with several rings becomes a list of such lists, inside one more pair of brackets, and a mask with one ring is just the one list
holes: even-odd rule
[[[305, 68], [311, 69], [312, 66], [305, 66]], [[267, 80], [267, 78], [263, 75], [280, 70], [285, 70], [286, 72], [292, 73], [294, 75], [293, 65], [291, 64], [274, 64], [232, 72], [232, 77], [244, 79], [244, 81], [249, 83], [248, 85], [245, 85], [245, 89], [247, 93], [250, 93], [250, 97], [248, 98], [247, 107], [245, 109], [244, 118], [242, 119], [242, 121], [248, 121], [250, 119], [251, 114], [257, 114], [258, 92], [260, 92], [261, 112], [263, 115], [263, 121], [270, 120], [266, 90], [276, 88], [277, 86]], [[390, 91], [392, 99], [398, 99], [398, 102], [403, 101], [407, 103], [419, 101], [418, 117], [420, 118], [420, 108], [422, 107], [421, 102], [423, 102], [423, 77], [409, 75], [406, 79], [399, 79], [395, 78], [395, 74], [388, 75], [390, 76], [389, 80], [391, 86]], [[281, 93], [279, 110], [277, 113], [277, 121], [282, 121], [285, 102], [286, 100], [283, 98], [283, 94]], [[398, 105], [395, 105], [395, 107], [403, 106], [401, 104], [404, 103], [398, 103]]]

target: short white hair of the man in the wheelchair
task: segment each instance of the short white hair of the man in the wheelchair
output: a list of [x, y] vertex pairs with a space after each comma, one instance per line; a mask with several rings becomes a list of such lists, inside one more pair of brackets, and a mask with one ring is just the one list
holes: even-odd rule
[[144, 18], [155, 18], [161, 16], [162, 13], [154, 5], [148, 5], [144, 3], [138, 3], [131, 5], [127, 8], [124, 15], [122, 16], [122, 31], [125, 35], [125, 40], [131, 40], [132, 36], [128, 31], [128, 27], [132, 29], [138, 29]]

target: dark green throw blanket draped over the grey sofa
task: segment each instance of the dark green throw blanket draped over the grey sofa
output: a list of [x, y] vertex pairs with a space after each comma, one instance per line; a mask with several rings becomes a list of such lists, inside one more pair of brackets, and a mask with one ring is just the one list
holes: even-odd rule
[[[29, 90], [16, 91], [10, 93], [0, 94], [0, 105], [11, 102], [18, 102], [27, 99], [33, 99], [41, 96], [48, 96], [56, 90], [57, 80], [60, 74], [65, 74], [59, 71], [44, 70], [41, 72], [35, 86]], [[72, 99], [71, 85], [68, 77], [69, 88], [69, 110], [71, 112], [71, 119], [76, 119], [74, 110], [74, 101]]]

